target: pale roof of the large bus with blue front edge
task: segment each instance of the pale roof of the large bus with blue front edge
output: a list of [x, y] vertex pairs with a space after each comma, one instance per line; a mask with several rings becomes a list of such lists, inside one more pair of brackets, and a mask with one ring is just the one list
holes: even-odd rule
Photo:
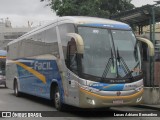
[[50, 25], [53, 25], [58, 22], [63, 22], [63, 21], [64, 21], [64, 23], [66, 21], [66, 23], [74, 23], [74, 24], [81, 25], [81, 26], [131, 30], [131, 27], [128, 24], [114, 21], [114, 20], [110, 20], [110, 19], [104, 19], [104, 18], [98, 18], [98, 17], [86, 17], [86, 16], [65, 16], [65, 17], [57, 17], [52, 22], [33, 29], [32, 31], [22, 35], [21, 37], [17, 38], [16, 40], [11, 41], [10, 43], [8, 43], [8, 45], [10, 45], [14, 42], [17, 42], [17, 41], [31, 35], [32, 33], [37, 32], [41, 29], [44, 29]]

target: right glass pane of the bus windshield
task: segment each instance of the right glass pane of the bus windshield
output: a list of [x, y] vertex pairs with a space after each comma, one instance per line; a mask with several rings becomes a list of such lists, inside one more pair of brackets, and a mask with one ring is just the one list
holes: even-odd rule
[[[117, 56], [121, 57], [121, 59], [124, 61], [124, 64], [126, 64], [125, 70], [125, 68], [123, 68], [125, 65], [122, 65], [120, 62], [118, 62], [119, 75], [124, 77], [127, 73], [130, 73], [130, 71], [133, 71], [135, 67], [136, 69], [139, 68], [140, 70], [140, 64], [137, 65], [137, 63], [140, 62], [140, 55], [138, 52], [139, 49], [132, 31], [111, 30], [111, 32], [116, 51], [118, 51]], [[140, 71], [132, 72], [133, 76], [137, 76], [139, 74]]]

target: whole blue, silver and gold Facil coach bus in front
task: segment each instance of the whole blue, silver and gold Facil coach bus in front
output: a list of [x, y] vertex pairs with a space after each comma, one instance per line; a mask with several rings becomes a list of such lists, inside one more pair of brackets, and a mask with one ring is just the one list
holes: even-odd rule
[[[140, 39], [150, 46], [152, 44]], [[129, 25], [94, 17], [59, 17], [10, 42], [6, 82], [16, 96], [50, 99], [58, 110], [136, 105], [143, 74]]]

